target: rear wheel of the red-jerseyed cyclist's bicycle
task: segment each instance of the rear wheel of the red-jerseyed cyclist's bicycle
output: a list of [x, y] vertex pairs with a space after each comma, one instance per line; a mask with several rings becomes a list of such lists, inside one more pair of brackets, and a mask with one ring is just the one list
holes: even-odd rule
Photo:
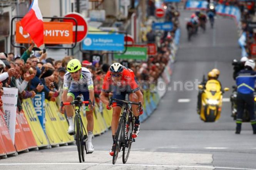
[[126, 139], [125, 147], [123, 147], [123, 163], [126, 163], [131, 151], [132, 146], [132, 130], [134, 129], [134, 120], [132, 119], [132, 113], [129, 113], [128, 119], [126, 121], [125, 130], [126, 130]]

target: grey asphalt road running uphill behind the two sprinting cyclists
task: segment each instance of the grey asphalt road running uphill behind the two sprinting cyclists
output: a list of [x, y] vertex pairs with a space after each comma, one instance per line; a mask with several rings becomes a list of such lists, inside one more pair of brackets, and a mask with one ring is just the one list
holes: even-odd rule
[[[239, 59], [238, 33], [231, 18], [218, 17], [214, 28], [199, 30], [187, 41], [186, 20], [191, 12], [182, 12], [181, 45], [172, 69], [171, 84], [157, 110], [141, 124], [141, 133], [132, 144], [127, 164], [121, 158], [112, 165], [108, 151], [111, 132], [95, 137], [95, 152], [79, 163], [75, 145], [21, 153], [0, 160], [0, 169], [256, 169], [256, 135], [244, 123], [240, 135], [234, 134], [230, 102], [223, 103], [218, 122], [204, 123], [196, 114], [196, 85], [185, 89], [187, 81], [201, 81], [202, 75], [216, 67], [221, 71], [223, 87], [232, 87], [231, 61]], [[209, 24], [209, 23], [208, 23]], [[175, 89], [175, 82], [183, 84]], [[226, 92], [224, 98], [229, 98]], [[183, 102], [178, 102], [183, 101]], [[185, 101], [185, 102], [184, 102]]]

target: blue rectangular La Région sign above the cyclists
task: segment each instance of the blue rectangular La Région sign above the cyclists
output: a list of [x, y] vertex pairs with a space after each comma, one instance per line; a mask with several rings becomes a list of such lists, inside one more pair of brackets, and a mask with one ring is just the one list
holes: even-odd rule
[[123, 34], [88, 34], [82, 41], [82, 50], [123, 51]]

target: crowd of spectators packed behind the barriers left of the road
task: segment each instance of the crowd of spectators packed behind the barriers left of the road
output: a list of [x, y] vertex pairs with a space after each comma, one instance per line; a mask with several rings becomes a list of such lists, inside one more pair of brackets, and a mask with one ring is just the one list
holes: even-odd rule
[[[170, 8], [172, 9], [172, 8]], [[169, 11], [169, 19], [178, 21], [179, 13], [175, 10]], [[178, 23], [177, 25], [178, 26]], [[175, 26], [174, 26], [175, 28]], [[157, 47], [157, 54], [149, 56], [147, 61], [116, 61], [134, 71], [138, 82], [156, 84], [157, 79], [163, 73], [170, 60], [171, 43], [174, 40], [175, 28], [170, 32], [162, 32], [160, 46]], [[148, 38], [148, 37], [147, 37]], [[146, 40], [151, 41], [151, 40]], [[157, 43], [152, 40], [151, 43]], [[40, 56], [31, 56], [35, 44], [22, 54], [15, 56], [13, 53], [0, 53], [0, 96], [3, 95], [3, 87], [15, 87], [18, 89], [18, 110], [22, 110], [22, 99], [33, 98], [37, 92], [44, 92], [45, 99], [56, 101], [62, 92], [66, 66], [72, 56], [65, 56], [61, 61], [50, 58], [47, 52], [40, 51]], [[109, 64], [89, 62], [84, 60], [82, 66], [88, 68], [94, 80], [95, 99], [99, 102], [99, 94], [102, 83], [109, 69]], [[149, 86], [148, 86], [149, 87]], [[145, 90], [142, 87], [142, 91]], [[0, 107], [3, 101], [0, 99]]]

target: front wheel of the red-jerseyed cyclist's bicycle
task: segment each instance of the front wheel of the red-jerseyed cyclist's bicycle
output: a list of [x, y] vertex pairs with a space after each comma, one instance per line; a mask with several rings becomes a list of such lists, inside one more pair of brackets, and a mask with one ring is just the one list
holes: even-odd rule
[[118, 124], [117, 132], [115, 133], [115, 147], [114, 147], [115, 153], [114, 153], [113, 160], [112, 160], [113, 164], [115, 164], [117, 157], [118, 157], [118, 153], [121, 150], [121, 147], [123, 144], [124, 126], [125, 126], [124, 117], [121, 117], [119, 124]]

